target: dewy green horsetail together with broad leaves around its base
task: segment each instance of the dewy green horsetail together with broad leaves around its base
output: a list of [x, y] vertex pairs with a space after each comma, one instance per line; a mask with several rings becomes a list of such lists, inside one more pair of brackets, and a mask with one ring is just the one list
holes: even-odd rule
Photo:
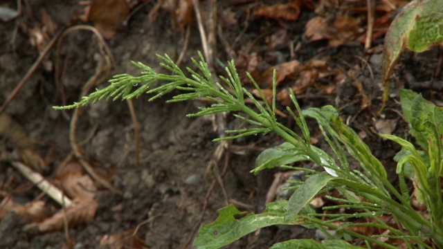
[[[246, 214], [240, 212], [233, 205], [219, 210], [219, 218], [209, 225], [202, 225], [199, 235], [195, 238], [195, 248], [220, 248], [239, 239], [240, 237], [275, 224], [304, 225], [307, 228], [318, 228], [325, 232], [330, 240], [318, 243], [312, 240], [290, 240], [277, 243], [273, 248], [354, 248], [346, 240], [352, 237], [359, 238], [368, 248], [370, 244], [384, 248], [396, 248], [383, 242], [378, 237], [387, 239], [400, 239], [408, 248], [432, 248], [430, 241], [438, 248], [443, 248], [443, 209], [440, 193], [440, 177], [442, 175], [442, 137], [443, 137], [443, 109], [411, 91], [401, 91], [401, 104], [404, 117], [411, 124], [411, 135], [423, 150], [415, 149], [413, 144], [392, 135], [380, 134], [382, 138], [393, 140], [403, 148], [397, 155], [397, 176], [399, 177], [399, 190], [388, 180], [386, 170], [380, 161], [375, 158], [370, 148], [347, 127], [338, 116], [338, 111], [332, 106], [321, 109], [310, 108], [302, 111], [296, 101], [296, 96], [291, 93], [296, 110], [296, 115], [289, 107], [291, 114], [300, 128], [302, 136], [284, 127], [275, 118], [275, 84], [273, 85], [273, 99], [271, 104], [260, 104], [254, 96], [242, 87], [237, 75], [234, 62], [231, 61], [226, 68], [227, 78], [220, 77], [221, 83], [215, 82], [210, 74], [208, 65], [201, 55], [200, 61], [192, 59], [199, 73], [192, 68], [187, 68], [188, 77], [168, 55], [158, 55], [163, 61], [161, 66], [168, 69], [171, 75], [156, 73], [149, 66], [134, 63], [143, 70], [142, 75], [116, 75], [111, 84], [105, 89], [97, 89], [95, 93], [82, 98], [80, 102], [67, 107], [56, 109], [70, 109], [97, 102], [102, 98], [114, 100], [127, 100], [136, 98], [145, 93], [153, 94], [150, 100], [165, 95], [174, 89], [181, 93], [174, 95], [168, 102], [178, 102], [208, 98], [213, 102], [209, 107], [200, 107], [200, 111], [188, 116], [204, 116], [225, 111], [241, 112], [246, 116], [235, 113], [240, 118], [254, 127], [226, 131], [232, 136], [218, 138], [217, 140], [235, 139], [257, 133], [275, 132], [287, 142], [278, 147], [267, 149], [257, 158], [256, 167], [252, 172], [257, 173], [272, 167], [296, 168], [291, 163], [309, 160], [325, 168], [326, 172], [306, 170], [309, 178], [304, 183], [293, 185], [295, 192], [289, 201], [275, 201], [266, 206], [262, 214]], [[275, 74], [275, 73], [274, 73]], [[264, 95], [253, 78], [256, 89], [264, 99]], [[275, 79], [275, 75], [274, 75]], [[154, 85], [156, 82], [165, 84]], [[138, 87], [134, 87], [138, 85]], [[254, 107], [244, 103], [244, 96], [253, 100]], [[309, 129], [305, 116], [317, 120], [325, 140], [334, 151], [336, 160], [322, 149], [311, 145]], [[352, 170], [348, 163], [347, 152], [359, 163], [361, 170]], [[296, 168], [300, 169], [300, 168]], [[418, 201], [428, 207], [429, 218], [417, 212], [410, 204], [410, 190], [407, 181], [415, 183], [415, 196]], [[327, 207], [328, 210], [349, 208], [355, 210], [353, 214], [341, 212], [328, 212], [318, 214], [309, 207], [309, 202], [314, 196], [334, 188], [341, 193], [341, 198], [332, 198], [341, 204]], [[237, 219], [236, 215], [244, 215]], [[381, 219], [381, 215], [390, 214], [395, 226]], [[368, 222], [353, 223], [350, 219], [368, 217]], [[369, 219], [370, 218], [370, 219]], [[334, 221], [347, 221], [336, 225]], [[388, 231], [383, 235], [367, 236], [354, 232], [352, 227], [374, 227]], [[331, 234], [328, 230], [335, 230]]]

